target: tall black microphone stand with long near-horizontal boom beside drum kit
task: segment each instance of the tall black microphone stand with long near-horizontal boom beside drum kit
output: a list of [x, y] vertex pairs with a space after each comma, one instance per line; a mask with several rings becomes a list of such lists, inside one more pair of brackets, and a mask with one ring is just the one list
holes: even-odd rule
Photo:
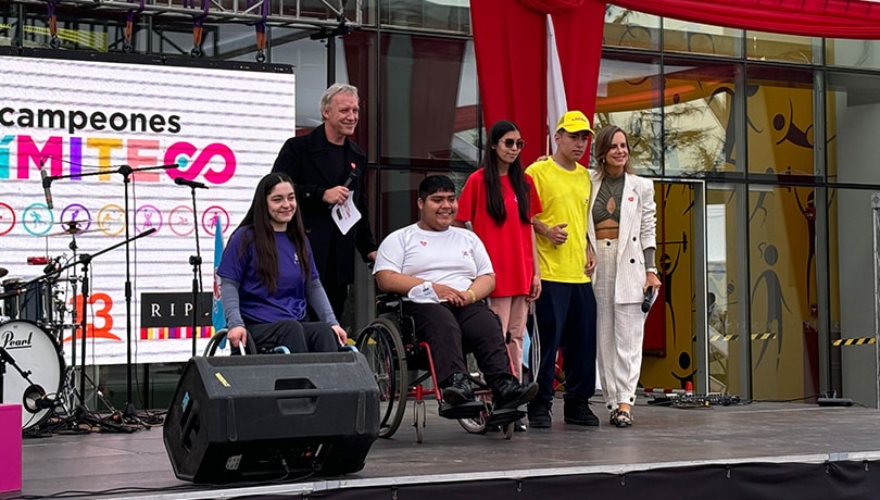
[[[154, 170], [168, 170], [168, 168], [176, 168], [179, 167], [177, 163], [172, 163], [168, 165], [158, 165], [158, 166], [143, 166], [140, 168], [131, 168], [129, 165], [122, 165], [116, 170], [116, 173], [123, 176], [123, 185], [125, 187], [125, 351], [126, 351], [126, 359], [125, 359], [125, 367], [126, 367], [126, 403], [125, 410], [123, 411], [123, 416], [135, 416], [135, 404], [131, 398], [131, 257], [130, 257], [130, 249], [129, 242], [140, 238], [141, 236], [146, 236], [148, 232], [141, 233], [136, 238], [131, 238], [128, 232], [129, 226], [129, 216], [128, 216], [128, 184], [130, 183], [131, 174], [135, 172], [144, 172], [144, 171], [154, 171]], [[79, 173], [79, 174], [68, 174], [68, 175], [49, 175], [46, 176], [43, 179], [43, 188], [50, 188], [52, 186], [53, 180], [62, 179], [62, 178], [71, 178], [71, 177], [89, 177], [95, 175], [103, 175], [106, 172], [88, 172], [88, 173]], [[194, 213], [193, 213], [194, 216]], [[101, 222], [99, 221], [98, 224], [100, 225]], [[111, 247], [115, 248], [115, 247]], [[92, 255], [95, 257], [95, 255]], [[81, 259], [81, 255], [80, 255]], [[86, 286], [83, 287], [84, 289]], [[85, 302], [85, 300], [84, 300]], [[85, 315], [84, 315], [85, 316]], [[83, 317], [83, 324], [85, 325], [86, 318]], [[83, 363], [85, 364], [85, 343], [86, 343], [86, 330], [83, 330]], [[85, 366], [83, 366], [85, 368]], [[80, 377], [81, 379], [81, 377]], [[81, 386], [80, 386], [81, 387]]]

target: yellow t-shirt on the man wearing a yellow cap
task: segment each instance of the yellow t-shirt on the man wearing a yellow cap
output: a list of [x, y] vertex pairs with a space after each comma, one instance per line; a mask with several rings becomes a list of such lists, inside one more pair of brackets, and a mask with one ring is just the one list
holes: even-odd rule
[[587, 265], [587, 211], [590, 207], [590, 173], [581, 164], [567, 171], [552, 158], [536, 162], [526, 168], [535, 180], [543, 212], [537, 218], [548, 226], [566, 223], [568, 239], [553, 245], [543, 236], [538, 241], [538, 261], [541, 279], [560, 283], [588, 283], [583, 273]]

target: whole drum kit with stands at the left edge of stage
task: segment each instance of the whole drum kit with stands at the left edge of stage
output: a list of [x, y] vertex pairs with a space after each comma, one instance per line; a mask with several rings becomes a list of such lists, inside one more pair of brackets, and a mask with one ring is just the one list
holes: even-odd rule
[[[83, 368], [76, 365], [75, 347], [77, 337], [83, 339], [83, 336], [77, 335], [79, 313], [73, 305], [81, 280], [73, 265], [76, 263], [76, 235], [86, 232], [79, 229], [79, 223], [81, 221], [64, 222], [64, 229], [52, 234], [72, 237], [68, 247], [74, 252], [73, 258], [28, 258], [28, 264], [46, 264], [41, 276], [29, 280], [8, 277], [9, 272], [0, 267], [0, 279], [5, 278], [0, 282], [0, 400], [22, 405], [25, 432], [56, 412], [71, 416], [81, 409], [75, 408], [74, 371]], [[62, 276], [63, 270], [72, 271]], [[68, 330], [73, 351], [70, 367], [62, 350]], [[85, 349], [85, 341], [81, 348]], [[79, 395], [79, 403], [83, 403], [81, 392]], [[103, 398], [102, 401], [110, 404]]]

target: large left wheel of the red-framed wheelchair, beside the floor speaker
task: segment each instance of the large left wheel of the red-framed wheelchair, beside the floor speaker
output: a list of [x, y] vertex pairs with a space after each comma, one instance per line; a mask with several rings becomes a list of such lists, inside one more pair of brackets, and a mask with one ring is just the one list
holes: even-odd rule
[[379, 437], [390, 438], [403, 421], [410, 382], [400, 330], [391, 320], [377, 317], [357, 335], [356, 346], [379, 386]]

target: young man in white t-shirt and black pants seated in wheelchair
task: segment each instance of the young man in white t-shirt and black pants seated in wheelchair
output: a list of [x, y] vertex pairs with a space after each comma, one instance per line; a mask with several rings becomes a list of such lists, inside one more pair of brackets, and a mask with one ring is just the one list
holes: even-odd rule
[[523, 385], [511, 373], [501, 323], [483, 301], [495, 286], [489, 254], [474, 233], [452, 227], [458, 202], [449, 177], [426, 177], [417, 203], [419, 221], [379, 245], [376, 283], [404, 296], [404, 314], [431, 348], [443, 389], [441, 416], [457, 418], [456, 408], [474, 403], [463, 352], [474, 352], [492, 388], [494, 412], [515, 410], [535, 398], [538, 386]]

